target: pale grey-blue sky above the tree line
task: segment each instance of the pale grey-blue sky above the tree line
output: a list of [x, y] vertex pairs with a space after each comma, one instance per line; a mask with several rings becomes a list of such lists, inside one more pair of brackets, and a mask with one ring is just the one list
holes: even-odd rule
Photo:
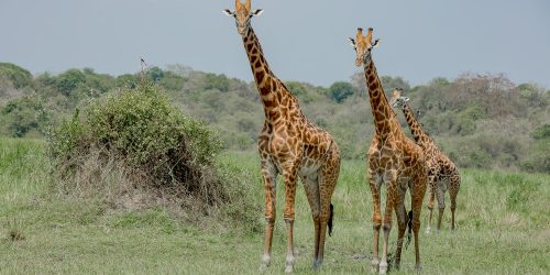
[[[346, 37], [374, 28], [381, 75], [505, 74], [550, 89], [550, 1], [252, 0], [267, 62], [283, 80], [329, 86], [361, 68]], [[0, 0], [0, 62], [34, 74], [94, 68], [121, 75], [182, 64], [251, 81], [233, 0]]]

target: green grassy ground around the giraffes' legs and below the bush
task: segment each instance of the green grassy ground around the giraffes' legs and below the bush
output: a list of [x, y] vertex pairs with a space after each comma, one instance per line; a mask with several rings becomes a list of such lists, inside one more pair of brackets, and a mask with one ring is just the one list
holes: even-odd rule
[[[227, 153], [220, 158], [255, 177], [254, 198], [263, 206], [257, 156]], [[43, 142], [0, 140], [2, 274], [257, 273], [263, 232], [221, 227], [215, 221], [211, 227], [193, 226], [161, 208], [110, 211], [100, 202], [61, 197], [52, 191], [48, 169]], [[422, 210], [424, 273], [550, 273], [550, 176], [472, 169], [461, 174], [455, 232], [449, 231], [447, 209], [443, 230], [424, 233], [427, 211]], [[282, 185], [278, 188], [282, 209], [284, 190]], [[333, 204], [336, 228], [320, 274], [367, 273], [373, 230], [364, 162], [343, 162]], [[302, 190], [298, 191], [296, 213], [295, 272], [314, 274], [312, 224]], [[279, 215], [268, 273], [284, 271], [283, 229]], [[396, 231], [394, 227], [392, 245]], [[402, 270], [394, 274], [411, 273], [413, 266], [414, 251], [409, 249], [404, 251]]]

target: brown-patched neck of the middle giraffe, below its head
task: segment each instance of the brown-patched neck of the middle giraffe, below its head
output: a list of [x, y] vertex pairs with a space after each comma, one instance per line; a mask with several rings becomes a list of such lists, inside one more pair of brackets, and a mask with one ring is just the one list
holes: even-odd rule
[[400, 131], [400, 128], [396, 127], [395, 112], [384, 94], [374, 62], [371, 61], [364, 69], [376, 134], [384, 140], [392, 131]]

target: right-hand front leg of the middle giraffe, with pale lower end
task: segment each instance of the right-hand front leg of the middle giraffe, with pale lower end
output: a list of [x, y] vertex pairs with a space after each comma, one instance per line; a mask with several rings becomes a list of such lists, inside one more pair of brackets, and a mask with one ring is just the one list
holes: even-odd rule
[[387, 246], [389, 240], [389, 232], [392, 231], [392, 215], [397, 202], [397, 175], [392, 173], [389, 180], [386, 183], [387, 194], [386, 194], [386, 209], [384, 210], [384, 223], [382, 226], [383, 230], [383, 243], [382, 243], [382, 258], [380, 262], [380, 274], [386, 274], [388, 266], [387, 258]]

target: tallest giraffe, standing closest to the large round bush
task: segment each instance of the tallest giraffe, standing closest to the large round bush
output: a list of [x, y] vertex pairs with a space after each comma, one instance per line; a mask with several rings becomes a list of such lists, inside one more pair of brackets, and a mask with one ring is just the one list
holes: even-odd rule
[[235, 0], [235, 10], [224, 10], [234, 16], [239, 34], [249, 57], [262, 105], [265, 121], [258, 136], [261, 172], [265, 190], [265, 240], [261, 270], [268, 267], [276, 213], [276, 177], [285, 184], [284, 219], [287, 230], [285, 272], [294, 270], [293, 228], [297, 178], [301, 179], [315, 227], [314, 268], [323, 260], [327, 228], [332, 230], [331, 197], [340, 173], [340, 151], [329, 132], [309, 121], [299, 108], [296, 97], [270, 69], [262, 46], [250, 20], [263, 10], [251, 10], [251, 0], [243, 4]]

